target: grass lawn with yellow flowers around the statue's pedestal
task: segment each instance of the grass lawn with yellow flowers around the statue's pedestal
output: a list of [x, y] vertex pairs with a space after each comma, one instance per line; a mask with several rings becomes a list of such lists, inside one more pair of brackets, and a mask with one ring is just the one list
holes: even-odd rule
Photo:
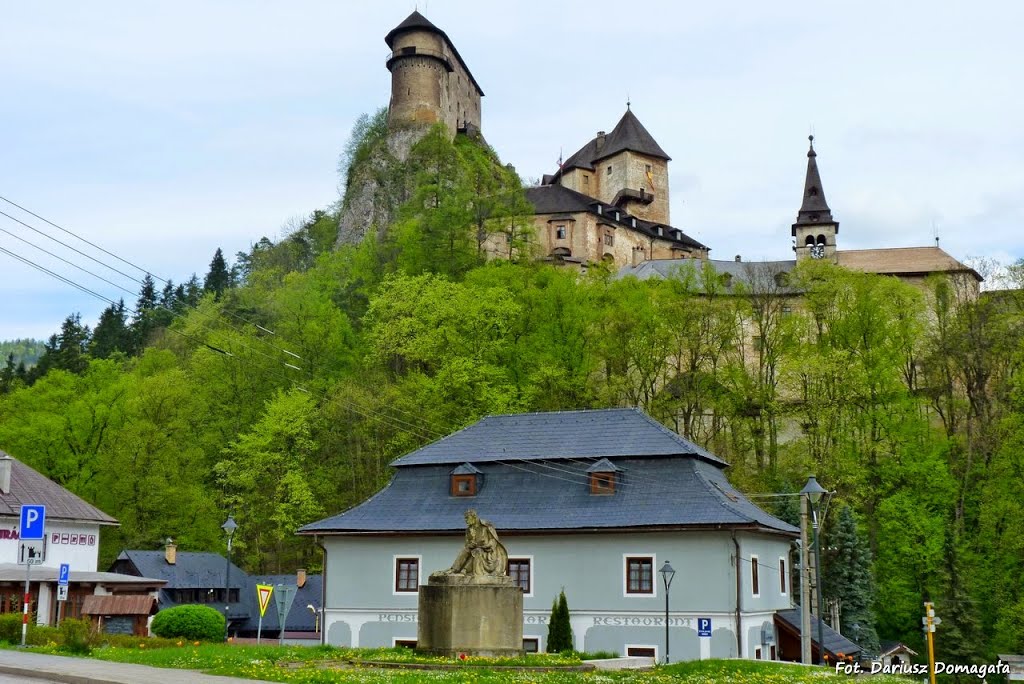
[[[144, 642], [141, 642], [144, 643]], [[53, 652], [49, 648], [36, 650]], [[636, 682], [657, 684], [827, 684], [847, 680], [831, 671], [801, 666], [757, 662], [753, 660], [706, 660], [680, 662], [649, 672], [514, 672], [496, 671], [501, 665], [572, 666], [575, 657], [528, 655], [523, 658], [480, 658], [466, 661], [418, 656], [402, 648], [352, 649], [307, 646], [241, 646], [201, 644], [145, 648], [144, 646], [102, 647], [91, 657], [119, 662], [135, 662], [160, 668], [199, 670], [214, 675], [228, 675], [274, 682], [319, 684], [328, 682], [531, 682], [537, 684]], [[349, 661], [435, 662], [458, 666], [455, 670], [424, 671], [380, 669], [351, 665]], [[871, 677], [871, 684], [906, 684], [898, 677]]]

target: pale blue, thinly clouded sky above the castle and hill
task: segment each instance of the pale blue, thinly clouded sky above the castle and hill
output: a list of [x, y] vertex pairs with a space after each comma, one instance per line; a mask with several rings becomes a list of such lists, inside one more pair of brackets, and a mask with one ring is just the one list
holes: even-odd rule
[[[338, 199], [353, 122], [387, 104], [384, 35], [415, 7], [4, 3], [0, 195], [163, 277], [202, 277], [218, 247], [247, 250]], [[610, 130], [630, 98], [672, 156], [673, 223], [713, 258], [792, 257], [811, 130], [841, 249], [937, 231], [959, 259], [1024, 256], [1024, 3], [419, 9], [455, 42], [486, 93], [484, 136], [524, 177]], [[134, 300], [3, 231], [0, 248]], [[0, 339], [47, 337], [74, 311], [91, 324], [103, 306], [0, 252]]]

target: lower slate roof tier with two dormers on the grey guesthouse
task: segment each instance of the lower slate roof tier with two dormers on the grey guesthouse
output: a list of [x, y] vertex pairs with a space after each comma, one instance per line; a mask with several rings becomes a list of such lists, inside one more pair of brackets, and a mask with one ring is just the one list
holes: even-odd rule
[[624, 472], [611, 496], [592, 496], [593, 460], [509, 460], [480, 467], [475, 497], [452, 497], [446, 465], [402, 467], [369, 501], [299, 532], [458, 533], [466, 509], [503, 531], [754, 528], [795, 537], [796, 527], [762, 511], [721, 468], [688, 456], [614, 459]]

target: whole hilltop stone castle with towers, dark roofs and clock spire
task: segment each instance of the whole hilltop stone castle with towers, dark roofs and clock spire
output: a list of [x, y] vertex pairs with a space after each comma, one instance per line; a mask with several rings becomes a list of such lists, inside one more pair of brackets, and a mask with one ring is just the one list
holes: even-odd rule
[[[393, 127], [443, 123], [453, 135], [478, 134], [483, 90], [443, 31], [414, 11], [384, 38], [391, 53]], [[981, 276], [939, 248], [840, 250], [839, 221], [825, 201], [814, 137], [807, 152], [804, 198], [791, 240], [795, 259], [767, 262], [778, 273], [799, 260], [828, 259], [841, 266], [896, 275], [921, 284], [932, 273], [959, 274], [978, 290]], [[526, 189], [534, 205], [534, 249], [540, 258], [583, 269], [606, 263], [623, 274], [662, 277], [683, 259], [699, 259], [728, 283], [744, 280], [740, 258], [710, 258], [711, 248], [673, 226], [669, 205], [672, 159], [627, 104], [610, 133], [598, 131], [558, 169]], [[494, 258], [509, 254], [502, 236], [488, 240]], [[736, 277], [738, 276], [738, 277]]]

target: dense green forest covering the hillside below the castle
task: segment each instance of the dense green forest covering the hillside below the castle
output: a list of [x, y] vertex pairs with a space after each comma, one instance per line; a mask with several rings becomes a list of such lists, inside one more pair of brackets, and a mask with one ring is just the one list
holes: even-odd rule
[[[147, 281], [93, 331], [69, 316], [3, 385], [0, 448], [121, 521], [102, 562], [167, 537], [221, 551], [233, 511], [247, 569], [315, 568], [295, 529], [375, 491], [393, 458], [487, 414], [636, 405], [746, 491], [811, 472], [837, 491], [825, 594], [861, 639], [920, 645], [932, 600], [944, 659], [1024, 650], [1016, 291], [820, 262], [788, 280], [751, 264], [745, 284], [699, 262], [581, 275], [528, 258], [521, 187], [489, 149], [435, 130], [380, 163], [382, 121], [345, 170], [372, 165], [391, 225], [338, 248], [342, 203], [233, 266], [218, 251], [203, 283]], [[487, 263], [494, 236], [521, 258]]]

